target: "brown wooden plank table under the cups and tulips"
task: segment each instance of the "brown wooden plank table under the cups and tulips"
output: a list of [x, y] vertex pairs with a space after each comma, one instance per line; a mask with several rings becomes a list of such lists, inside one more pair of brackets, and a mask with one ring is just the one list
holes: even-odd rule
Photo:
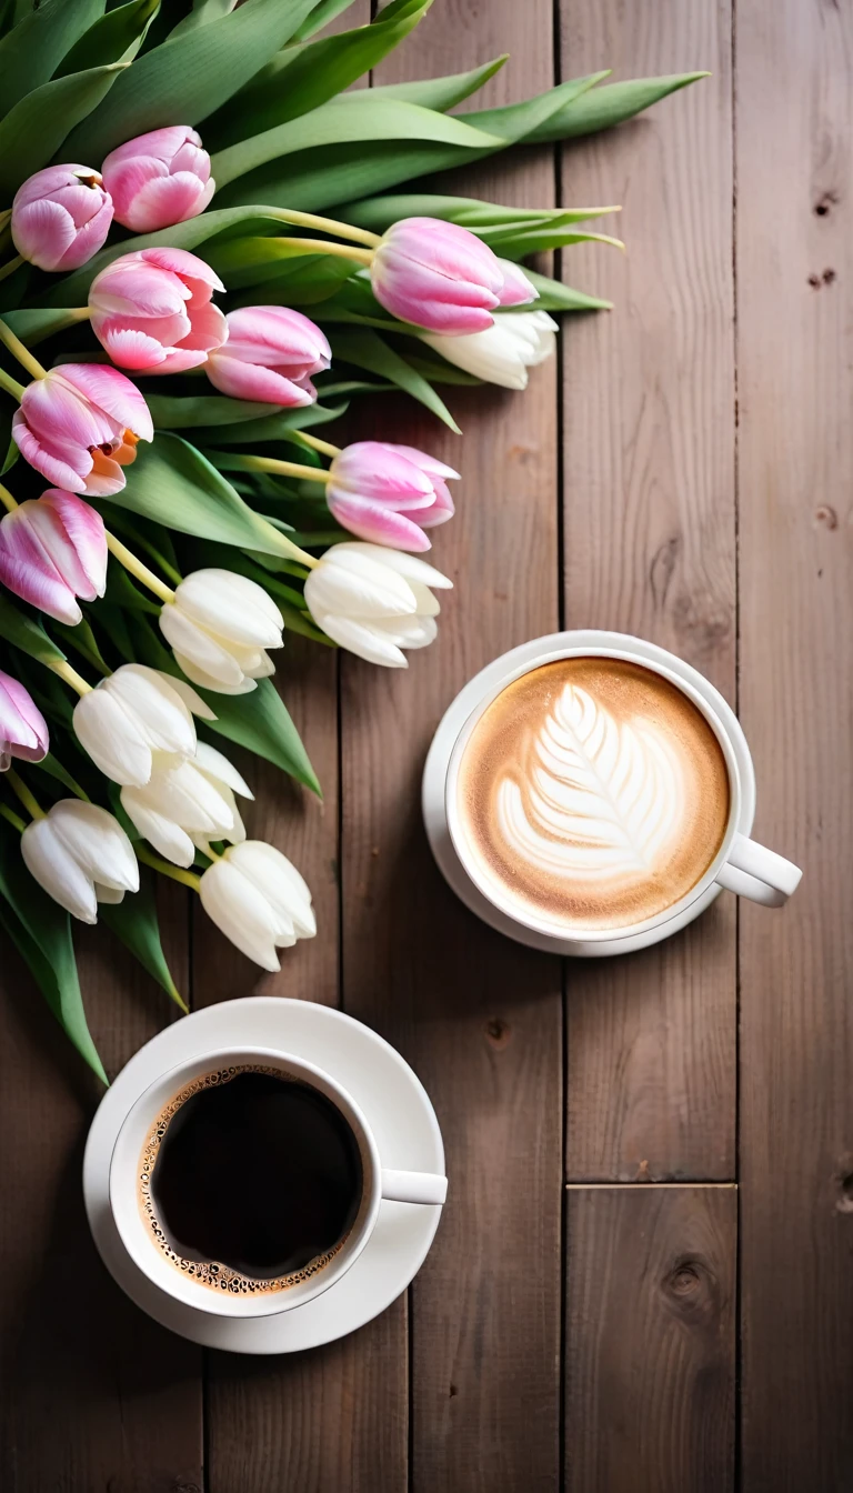
[[[252, 766], [252, 826], [303, 869], [320, 936], [258, 978], [164, 900], [196, 1005], [341, 1005], [414, 1065], [451, 1175], [435, 1248], [327, 1350], [245, 1360], [155, 1327], [85, 1229], [94, 1091], [4, 950], [4, 1493], [853, 1486], [853, 18], [557, 9], [436, 0], [379, 81], [508, 49], [503, 103], [708, 67], [632, 125], [465, 179], [624, 203], [626, 258], [563, 255], [615, 311], [568, 318], [527, 394], [456, 393], [462, 442], [412, 406], [370, 414], [462, 467], [435, 543], [457, 590], [406, 673], [296, 643], [279, 669], [326, 802]], [[736, 705], [756, 833], [805, 867], [784, 912], [725, 894], [644, 954], [560, 964], [456, 902], [420, 823], [430, 735], [469, 675], [559, 626], [663, 643]], [[106, 930], [79, 948], [115, 1072], [169, 1014]]]

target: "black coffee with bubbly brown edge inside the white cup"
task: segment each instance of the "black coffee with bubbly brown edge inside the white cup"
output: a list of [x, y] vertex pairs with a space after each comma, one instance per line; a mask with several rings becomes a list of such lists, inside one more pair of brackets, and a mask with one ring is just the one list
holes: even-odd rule
[[323, 1269], [362, 1200], [341, 1111], [275, 1069], [196, 1079], [158, 1117], [140, 1205], [167, 1259], [230, 1291], [281, 1290]]

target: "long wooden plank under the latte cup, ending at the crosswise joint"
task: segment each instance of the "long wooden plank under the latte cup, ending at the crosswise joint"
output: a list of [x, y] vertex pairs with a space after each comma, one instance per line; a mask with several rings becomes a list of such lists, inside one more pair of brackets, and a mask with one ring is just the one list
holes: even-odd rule
[[[635, 633], [733, 700], [731, 13], [714, 0], [563, 0], [562, 70], [714, 76], [563, 149], [566, 205], [620, 202], [624, 257], [563, 252], [615, 302], [566, 318], [566, 627]], [[666, 945], [568, 973], [568, 1176], [735, 1169], [735, 902]]]

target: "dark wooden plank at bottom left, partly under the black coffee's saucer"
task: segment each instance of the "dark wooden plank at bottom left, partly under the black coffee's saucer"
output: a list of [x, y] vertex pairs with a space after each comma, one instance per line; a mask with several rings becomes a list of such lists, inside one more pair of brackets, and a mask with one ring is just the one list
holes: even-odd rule
[[[164, 942], [185, 990], [187, 903], [172, 890]], [[114, 1075], [166, 1024], [169, 1002], [105, 929], [75, 941], [90, 1027]], [[200, 1351], [122, 1294], [84, 1214], [82, 1151], [100, 1084], [6, 947], [3, 993], [0, 1486], [191, 1493], [202, 1486]]]

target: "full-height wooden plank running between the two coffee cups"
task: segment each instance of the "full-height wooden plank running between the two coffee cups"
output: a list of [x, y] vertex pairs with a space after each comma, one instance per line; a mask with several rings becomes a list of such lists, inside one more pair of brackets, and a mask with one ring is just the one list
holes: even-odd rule
[[[481, 96], [506, 103], [550, 87], [550, 39], [547, 0], [515, 10], [445, 0], [376, 81], [459, 72], [506, 49], [511, 63]], [[550, 149], [454, 178], [454, 190], [523, 206], [551, 203], [553, 188]], [[551, 1493], [560, 970], [490, 932], [444, 885], [424, 841], [420, 773], [465, 679], [557, 623], [556, 367], [536, 370], [523, 397], [448, 396], [463, 442], [411, 405], [370, 412], [376, 434], [462, 472], [457, 517], [436, 530], [430, 555], [457, 590], [442, 599], [438, 642], [405, 673], [342, 660], [344, 1003], [414, 1065], [447, 1147], [450, 1202], [411, 1293], [411, 1487]], [[391, 1405], [405, 1363], [400, 1335], [387, 1362]], [[378, 1424], [382, 1415], [379, 1397]], [[397, 1487], [402, 1468], [388, 1493]]]

